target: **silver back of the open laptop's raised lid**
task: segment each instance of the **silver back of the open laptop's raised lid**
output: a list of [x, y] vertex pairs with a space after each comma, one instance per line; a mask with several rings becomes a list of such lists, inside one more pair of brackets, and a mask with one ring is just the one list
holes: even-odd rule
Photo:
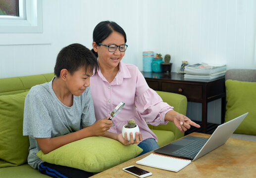
[[247, 115], [248, 112], [235, 119], [232, 119], [231, 121], [219, 125], [192, 161], [195, 161], [196, 159], [204, 156], [208, 152], [224, 144], [228, 140], [228, 138], [235, 132], [235, 130], [238, 128], [238, 126], [242, 123]]

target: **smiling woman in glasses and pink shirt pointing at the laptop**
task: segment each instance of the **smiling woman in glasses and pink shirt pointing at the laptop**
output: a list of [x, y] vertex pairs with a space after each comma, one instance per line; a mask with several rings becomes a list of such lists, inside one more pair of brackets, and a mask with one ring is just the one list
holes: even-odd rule
[[[91, 91], [96, 120], [109, 116], [109, 112], [121, 101], [123, 109], [112, 119], [112, 127], [104, 135], [124, 145], [139, 143], [141, 154], [158, 148], [157, 137], [147, 124], [157, 126], [174, 122], [181, 132], [191, 125], [200, 128], [186, 116], [177, 113], [150, 89], [138, 68], [121, 60], [127, 48], [126, 34], [115, 22], [100, 22], [93, 32], [92, 51], [98, 57], [100, 69], [91, 77]], [[134, 119], [140, 128], [135, 140], [123, 138], [122, 127]], [[128, 133], [129, 134], [129, 133]], [[130, 134], [132, 137], [132, 134]]]

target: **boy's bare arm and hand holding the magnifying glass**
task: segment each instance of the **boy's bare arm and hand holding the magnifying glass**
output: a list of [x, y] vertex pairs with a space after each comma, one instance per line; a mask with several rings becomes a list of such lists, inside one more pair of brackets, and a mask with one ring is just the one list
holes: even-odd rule
[[71, 134], [65, 134], [61, 136], [56, 136], [54, 138], [36, 138], [37, 143], [44, 154], [57, 149], [65, 144], [71, 143], [73, 141], [86, 138], [89, 136], [97, 136], [105, 134], [106, 131], [111, 127], [112, 121], [107, 118], [101, 119], [95, 122], [92, 126], [84, 127], [83, 129], [76, 131]]

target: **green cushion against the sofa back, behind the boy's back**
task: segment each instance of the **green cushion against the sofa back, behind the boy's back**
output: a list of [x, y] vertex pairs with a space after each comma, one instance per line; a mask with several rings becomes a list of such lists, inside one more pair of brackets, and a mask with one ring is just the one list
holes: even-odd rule
[[0, 168], [27, 162], [29, 139], [22, 135], [27, 93], [0, 96]]

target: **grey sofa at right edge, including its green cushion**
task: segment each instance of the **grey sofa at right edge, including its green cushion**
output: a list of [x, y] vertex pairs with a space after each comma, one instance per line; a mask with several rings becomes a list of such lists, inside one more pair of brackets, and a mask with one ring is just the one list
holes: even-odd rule
[[231, 137], [256, 141], [256, 69], [229, 69], [225, 80], [225, 122], [249, 112]]

